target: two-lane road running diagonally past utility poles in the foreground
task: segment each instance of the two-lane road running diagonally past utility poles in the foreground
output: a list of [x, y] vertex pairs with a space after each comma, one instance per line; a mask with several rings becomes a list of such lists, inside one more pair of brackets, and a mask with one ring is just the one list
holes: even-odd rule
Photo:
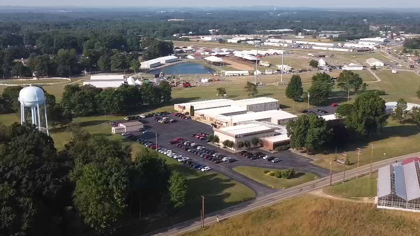
[[[400, 156], [400, 157], [394, 157], [394, 158], [390, 158], [390, 159], [387, 159], [387, 160], [379, 161], [379, 162], [373, 163], [373, 170], [377, 170], [378, 168], [380, 168], [382, 166], [394, 163], [394, 161], [400, 161], [400, 160], [404, 160], [404, 159], [409, 158], [409, 157], [415, 157], [415, 156], [419, 156], [419, 155], [420, 155], [420, 152], [416, 152], [416, 153], [412, 153], [412, 154], [408, 154], [408, 155], [404, 155], [404, 156]], [[370, 172], [370, 165], [364, 165], [364, 166], [361, 166], [359, 168], [358, 174], [359, 174], [359, 176], [361, 176], [363, 174], [368, 174], [369, 172]], [[349, 180], [349, 179], [355, 178], [356, 175], [357, 175], [357, 169], [348, 170], [345, 173], [345, 179]], [[332, 175], [332, 183], [333, 184], [340, 183], [342, 181], [343, 181], [343, 173], [342, 172]], [[209, 215], [206, 215], [205, 216], [205, 225], [217, 223], [217, 221], [215, 219], [216, 214], [218, 215], [219, 220], [223, 220], [223, 219], [226, 219], [226, 218], [229, 218], [229, 217], [233, 217], [233, 216], [236, 216], [236, 215], [240, 215], [240, 214], [258, 209], [260, 207], [273, 205], [275, 203], [281, 202], [284, 199], [300, 196], [302, 194], [313, 191], [315, 189], [320, 189], [320, 188], [323, 188], [325, 186], [328, 186], [329, 184], [330, 184], [330, 178], [327, 176], [327, 177], [320, 178], [320, 179], [315, 180], [315, 181], [310, 181], [310, 182], [301, 184], [299, 186], [295, 186], [295, 187], [286, 189], [284, 191], [269, 194], [269, 195], [266, 195], [264, 197], [259, 197], [259, 198], [256, 198], [254, 200], [251, 200], [249, 202], [245, 202], [245, 203], [242, 203], [242, 204], [239, 204], [239, 205], [235, 205], [233, 207], [228, 207], [224, 210], [220, 210], [220, 211], [217, 211], [217, 212], [213, 212]], [[178, 235], [178, 234], [181, 234], [181, 233], [186, 233], [188, 231], [199, 229], [200, 225], [201, 225], [200, 219], [196, 218], [196, 219], [193, 219], [193, 220], [185, 221], [183, 223], [178, 223], [176, 225], [173, 225], [173, 226], [170, 226], [170, 227], [167, 227], [167, 228], [163, 228], [163, 229], [158, 230], [158, 231], [143, 234], [142, 236], [152, 236], [152, 235], [172, 236], [172, 235]]]

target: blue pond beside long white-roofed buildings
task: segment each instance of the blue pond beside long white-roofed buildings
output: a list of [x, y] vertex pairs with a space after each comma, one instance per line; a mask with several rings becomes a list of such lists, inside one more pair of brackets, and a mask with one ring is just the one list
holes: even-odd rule
[[214, 73], [212, 68], [208, 68], [207, 66], [203, 66], [201, 64], [186, 62], [186, 63], [178, 63], [175, 65], [167, 66], [164, 68], [160, 68], [154, 71], [150, 71], [149, 73], [158, 74], [163, 72], [166, 76], [168, 75], [186, 75], [186, 74], [207, 74]]

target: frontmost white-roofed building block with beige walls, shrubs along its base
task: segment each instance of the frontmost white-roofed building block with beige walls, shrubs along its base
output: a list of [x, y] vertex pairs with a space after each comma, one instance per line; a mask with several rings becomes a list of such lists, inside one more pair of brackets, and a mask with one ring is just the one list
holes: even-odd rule
[[248, 140], [251, 143], [252, 138], [255, 137], [262, 138], [274, 136], [275, 128], [269, 128], [267, 126], [250, 123], [224, 128], [213, 128], [213, 131], [214, 134], [219, 137], [220, 144], [225, 140], [231, 140], [234, 142], [234, 146], [231, 149], [236, 151], [239, 149], [238, 143], [240, 141], [244, 142]]

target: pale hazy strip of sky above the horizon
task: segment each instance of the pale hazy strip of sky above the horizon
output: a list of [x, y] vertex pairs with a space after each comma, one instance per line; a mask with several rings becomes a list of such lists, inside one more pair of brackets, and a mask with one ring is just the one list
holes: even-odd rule
[[178, 6], [178, 7], [224, 7], [224, 6], [253, 6], [253, 5], [270, 5], [285, 7], [319, 7], [319, 8], [336, 8], [336, 7], [356, 7], [356, 8], [420, 8], [420, 1], [415, 0], [382, 0], [382, 1], [337, 1], [337, 0], [228, 0], [228, 1], [204, 1], [204, 0], [0, 0], [0, 5], [12, 6], [89, 6], [89, 7], [126, 7], [126, 6]]

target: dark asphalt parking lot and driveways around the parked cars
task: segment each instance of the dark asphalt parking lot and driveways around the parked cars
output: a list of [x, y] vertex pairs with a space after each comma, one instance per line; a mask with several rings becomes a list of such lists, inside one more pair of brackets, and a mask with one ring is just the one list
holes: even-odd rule
[[[178, 122], [175, 123], [159, 123], [155, 121], [153, 117], [144, 118], [142, 120], [146, 121], [147, 123], [144, 124], [144, 128], [149, 129], [152, 131], [150, 134], [143, 134], [141, 131], [134, 131], [131, 134], [139, 136], [141, 139], [150, 140], [152, 142], [156, 141], [157, 135], [157, 145], [160, 147], [170, 149], [176, 154], [182, 155], [184, 157], [188, 157], [190, 160], [197, 162], [202, 165], [209, 166], [211, 168], [210, 171], [217, 171], [229, 178], [232, 178], [245, 186], [253, 189], [257, 196], [265, 196], [272, 192], [277, 191], [276, 189], [270, 189], [265, 185], [262, 185], [256, 181], [253, 181], [245, 176], [242, 176], [239, 173], [236, 173], [232, 168], [239, 166], [239, 165], [246, 165], [246, 166], [253, 166], [253, 167], [261, 167], [261, 168], [278, 168], [278, 169], [286, 169], [286, 168], [295, 168], [297, 171], [304, 171], [314, 173], [319, 177], [324, 177], [329, 174], [329, 170], [320, 168], [317, 165], [309, 163], [310, 159], [302, 157], [300, 155], [296, 155], [290, 151], [282, 151], [277, 152], [276, 154], [272, 154], [270, 152], [265, 152], [260, 149], [254, 149], [250, 152], [263, 152], [266, 155], [270, 155], [272, 157], [279, 158], [280, 161], [278, 163], [271, 163], [269, 161], [265, 161], [262, 159], [257, 160], [249, 160], [246, 157], [242, 157], [239, 154], [234, 154], [228, 152], [225, 149], [214, 147], [211, 144], [208, 144], [206, 140], [199, 140], [195, 139], [191, 135], [193, 133], [201, 133], [205, 132], [208, 134], [213, 134], [213, 128], [207, 124], [200, 123], [198, 121], [193, 120], [184, 120], [179, 117], [175, 117], [172, 114], [167, 115], [168, 117], [177, 120]], [[184, 138], [195, 142], [201, 146], [204, 146], [209, 149], [213, 149], [215, 152], [220, 154], [226, 155], [227, 157], [231, 157], [235, 159], [235, 162], [228, 163], [228, 162], [221, 162], [218, 164], [213, 163], [211, 160], [207, 160], [204, 157], [200, 157], [192, 152], [187, 152], [176, 145], [168, 144], [169, 141], [175, 138]], [[197, 170], [199, 171], [199, 170]]]

